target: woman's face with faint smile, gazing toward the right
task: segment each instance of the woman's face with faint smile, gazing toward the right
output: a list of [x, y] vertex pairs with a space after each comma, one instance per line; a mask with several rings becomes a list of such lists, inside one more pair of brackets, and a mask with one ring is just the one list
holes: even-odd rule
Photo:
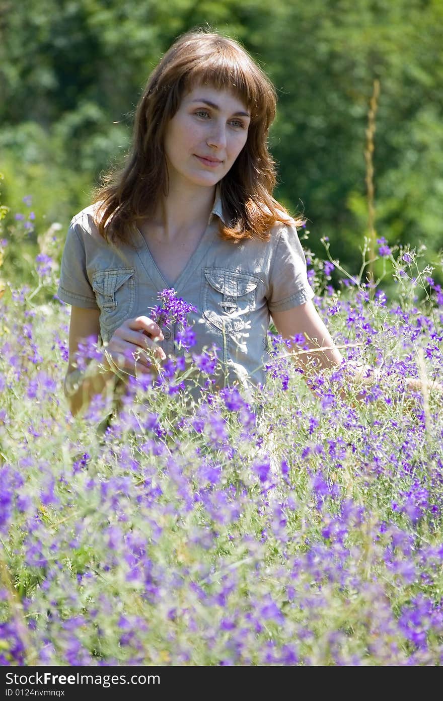
[[216, 185], [245, 146], [249, 125], [249, 110], [233, 93], [193, 88], [165, 132], [170, 184]]

